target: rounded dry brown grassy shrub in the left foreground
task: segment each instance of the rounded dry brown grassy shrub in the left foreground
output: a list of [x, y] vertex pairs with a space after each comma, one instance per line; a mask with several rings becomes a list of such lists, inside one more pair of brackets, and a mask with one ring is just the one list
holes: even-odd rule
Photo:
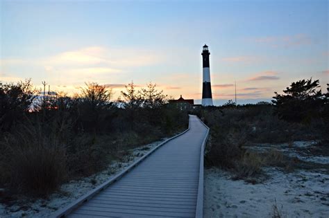
[[46, 196], [67, 176], [65, 145], [38, 125], [25, 126], [1, 143], [0, 170], [12, 190]]

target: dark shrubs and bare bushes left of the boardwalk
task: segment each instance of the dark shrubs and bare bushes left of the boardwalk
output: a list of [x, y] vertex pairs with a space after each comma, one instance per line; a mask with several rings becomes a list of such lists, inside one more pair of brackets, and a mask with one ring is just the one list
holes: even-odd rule
[[[47, 196], [60, 184], [87, 176], [123, 151], [187, 128], [187, 111], [167, 105], [148, 84], [112, 92], [87, 83], [81, 93], [40, 95], [31, 80], [0, 87], [0, 184], [18, 193]], [[147, 134], [145, 134], [147, 133]]]

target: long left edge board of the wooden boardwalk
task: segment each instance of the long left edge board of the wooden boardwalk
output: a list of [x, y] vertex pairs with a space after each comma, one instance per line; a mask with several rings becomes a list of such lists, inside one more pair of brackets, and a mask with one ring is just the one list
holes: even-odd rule
[[153, 152], [155, 152], [155, 150], [157, 150], [158, 148], [162, 147], [162, 145], [165, 145], [170, 140], [173, 140], [174, 138], [177, 138], [178, 136], [181, 136], [181, 135], [185, 134], [185, 132], [187, 132], [187, 131], [189, 131], [189, 127], [185, 131], [181, 132], [180, 134], [177, 134], [176, 136], [168, 138], [163, 143], [160, 143], [160, 145], [158, 145], [158, 146], [154, 147], [153, 149], [151, 149], [151, 151], [146, 153], [144, 156], [142, 156], [142, 158], [140, 158], [137, 161], [135, 161], [134, 163], [132, 163], [126, 170], [121, 171], [119, 174], [117, 174], [117, 176], [115, 176], [112, 179], [102, 183], [98, 187], [94, 188], [94, 190], [91, 190], [90, 192], [87, 192], [87, 194], [85, 194], [82, 197], [76, 199], [76, 201], [70, 203], [65, 208], [62, 208], [61, 210], [58, 210], [57, 212], [55, 212], [50, 217], [59, 217], [59, 218], [66, 217], [67, 215], [69, 215], [70, 212], [72, 212], [73, 210], [75, 210], [76, 208], [81, 206], [83, 203], [85, 203], [85, 202], [89, 201], [90, 199], [92, 199], [92, 197], [94, 197], [96, 194], [99, 194], [99, 192], [101, 192], [101, 191], [105, 190], [106, 188], [108, 188], [108, 186], [112, 185], [112, 183], [115, 183], [116, 181], [121, 179], [122, 176], [124, 176], [125, 174], [130, 172], [130, 170], [133, 170], [134, 167], [136, 167], [137, 165], [142, 163], [142, 161], [144, 161], [145, 158], [147, 158], [148, 156], [153, 154]]

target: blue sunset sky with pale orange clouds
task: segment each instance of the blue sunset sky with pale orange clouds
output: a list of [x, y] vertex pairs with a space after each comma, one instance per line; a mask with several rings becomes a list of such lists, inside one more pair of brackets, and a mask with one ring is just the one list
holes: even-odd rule
[[297, 80], [329, 83], [328, 1], [3, 1], [0, 81], [31, 78], [78, 93], [157, 84], [172, 98], [202, 98], [210, 50], [214, 105], [271, 100]]

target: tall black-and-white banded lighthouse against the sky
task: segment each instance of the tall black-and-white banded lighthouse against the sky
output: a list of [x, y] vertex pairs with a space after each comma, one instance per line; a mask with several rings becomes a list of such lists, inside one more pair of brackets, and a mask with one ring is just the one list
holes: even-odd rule
[[202, 106], [212, 106], [212, 93], [210, 84], [210, 68], [208, 46], [203, 46], [202, 62], [203, 62], [203, 84], [202, 84]]

